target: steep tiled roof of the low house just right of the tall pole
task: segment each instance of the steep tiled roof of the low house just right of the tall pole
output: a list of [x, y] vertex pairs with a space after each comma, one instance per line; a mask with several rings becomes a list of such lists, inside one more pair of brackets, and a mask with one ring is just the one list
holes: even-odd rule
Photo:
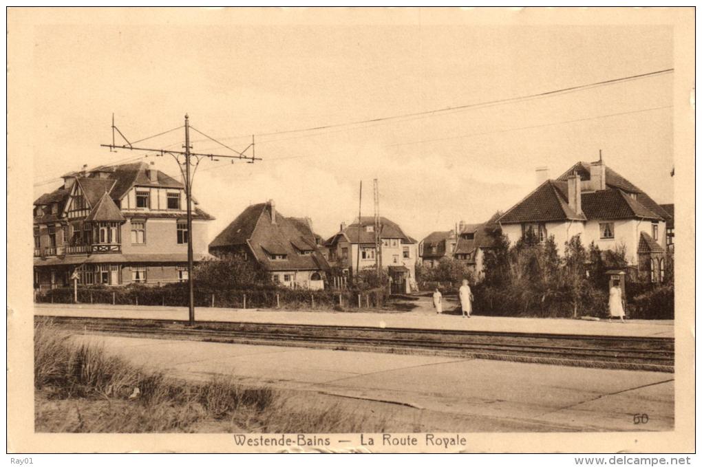
[[[307, 222], [289, 218], [272, 210], [268, 203], [251, 205], [210, 243], [211, 251], [237, 245], [250, 245], [253, 255], [268, 271], [326, 270], [326, 259]], [[310, 254], [301, 255], [307, 251]], [[270, 255], [286, 255], [270, 259]]]

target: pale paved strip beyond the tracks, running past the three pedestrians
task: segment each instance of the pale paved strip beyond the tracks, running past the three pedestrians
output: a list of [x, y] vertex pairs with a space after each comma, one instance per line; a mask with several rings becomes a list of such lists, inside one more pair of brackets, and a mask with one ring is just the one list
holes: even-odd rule
[[[105, 304], [34, 304], [37, 316], [86, 316], [187, 320], [187, 308], [174, 306], [132, 306]], [[425, 309], [407, 313], [364, 313], [334, 311], [284, 311], [271, 309], [196, 308], [198, 321], [333, 325], [362, 327], [411, 327], [432, 330], [474, 330], [489, 332], [541, 332], [547, 334], [604, 335], [623, 337], [674, 337], [672, 320], [631, 320], [626, 323], [557, 318], [506, 318], [437, 315]]]

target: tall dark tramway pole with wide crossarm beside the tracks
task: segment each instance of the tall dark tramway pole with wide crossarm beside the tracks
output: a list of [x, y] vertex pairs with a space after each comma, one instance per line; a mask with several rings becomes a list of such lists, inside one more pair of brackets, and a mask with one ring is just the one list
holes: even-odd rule
[[[101, 147], [109, 147], [110, 151], [116, 151], [117, 149], [129, 149], [131, 151], [150, 151], [150, 152], [156, 152], [158, 153], [157, 156], [164, 156], [164, 154], [170, 154], [173, 156], [173, 158], [176, 159], [176, 162], [178, 162], [178, 168], [180, 168], [180, 173], [183, 175], [183, 178], [185, 179], [185, 202], [187, 203], [187, 209], [186, 209], [186, 215], [187, 215], [187, 238], [185, 238], [185, 241], [187, 241], [187, 288], [188, 288], [188, 320], [187, 323], [188, 325], [194, 325], [195, 323], [195, 293], [194, 293], [194, 285], [192, 281], [192, 269], [193, 269], [193, 252], [192, 252], [192, 181], [195, 175], [195, 172], [197, 171], [197, 167], [200, 164], [200, 162], [205, 159], [209, 158], [211, 161], [218, 161], [219, 158], [229, 158], [232, 159], [232, 163], [234, 163], [234, 159], [244, 159], [248, 161], [249, 163], [253, 163], [254, 161], [261, 161], [261, 158], [256, 157], [256, 147], [254, 146], [254, 140], [253, 136], [251, 137], [251, 144], [249, 144], [244, 151], [237, 151], [236, 149], [232, 149], [226, 144], [223, 144], [217, 140], [215, 140], [213, 137], [209, 137], [208, 135], [205, 135], [202, 133], [200, 130], [197, 130], [197, 128], [191, 127], [190, 126], [190, 119], [185, 114], [185, 125], [183, 127], [178, 127], [174, 128], [174, 130], [178, 130], [179, 128], [185, 128], [185, 144], [183, 145], [183, 149], [185, 151], [173, 151], [171, 149], [154, 149], [154, 148], [147, 148], [147, 147], [135, 147], [129, 140], [126, 139], [126, 137], [122, 134], [122, 132], [117, 128], [117, 126], [114, 125], [114, 114], [112, 114], [112, 144], [100, 144]], [[216, 142], [220, 144], [221, 146], [230, 149], [230, 151], [234, 151], [236, 153], [236, 156], [231, 156], [231, 155], [225, 155], [225, 154], [204, 154], [204, 153], [197, 153], [197, 152], [192, 152], [192, 146], [190, 146], [190, 128], [193, 130], [197, 131], [197, 133], [203, 135], [204, 137], [208, 138], [209, 140], [212, 140], [213, 142]], [[115, 131], [119, 133], [119, 135], [122, 137], [122, 139], [126, 142], [126, 144], [116, 144], [114, 141], [115, 137]], [[171, 131], [171, 130], [169, 130]], [[168, 132], [164, 132], [168, 133]], [[162, 135], [164, 133], [159, 133], [159, 135]], [[159, 136], [155, 135], [155, 136]], [[154, 136], [154, 137], [155, 137]], [[144, 138], [144, 140], [148, 140], [149, 138]], [[140, 140], [143, 141], [143, 140]], [[246, 156], [244, 153], [251, 148], [252, 155], [251, 156]], [[180, 162], [180, 156], [183, 156], [185, 158], [185, 161], [183, 163]], [[194, 164], [194, 168], [190, 170], [190, 166], [192, 163], [192, 158], [196, 158], [197, 163]], [[182, 164], [185, 164], [185, 172], [183, 172], [183, 167], [181, 167]]]

